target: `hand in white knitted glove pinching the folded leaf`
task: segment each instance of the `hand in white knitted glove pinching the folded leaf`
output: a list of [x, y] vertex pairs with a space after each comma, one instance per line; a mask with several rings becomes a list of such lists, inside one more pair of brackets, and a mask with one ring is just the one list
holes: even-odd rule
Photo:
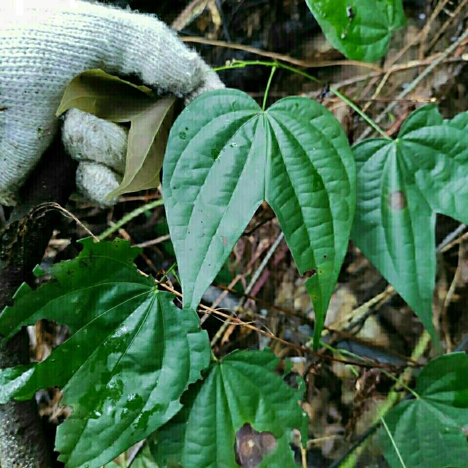
[[[59, 130], [68, 83], [101, 68], [161, 92], [195, 98], [224, 85], [164, 23], [83, 0], [0, 1], [0, 203], [15, 195]], [[128, 131], [76, 109], [62, 140], [79, 159], [77, 186], [98, 204], [120, 183]], [[111, 200], [111, 203], [115, 200]]]

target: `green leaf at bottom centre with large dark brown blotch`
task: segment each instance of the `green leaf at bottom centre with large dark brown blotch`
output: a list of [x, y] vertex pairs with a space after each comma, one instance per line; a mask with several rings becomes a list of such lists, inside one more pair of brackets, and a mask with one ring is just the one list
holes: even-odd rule
[[242, 466], [295, 468], [292, 429], [304, 433], [308, 418], [298, 403], [300, 390], [275, 374], [277, 363], [270, 351], [234, 351], [213, 363], [182, 397], [184, 408], [152, 438], [156, 462], [168, 468], [238, 468], [236, 433], [250, 424], [260, 433], [252, 452], [261, 450], [263, 436], [274, 443], [260, 464]]

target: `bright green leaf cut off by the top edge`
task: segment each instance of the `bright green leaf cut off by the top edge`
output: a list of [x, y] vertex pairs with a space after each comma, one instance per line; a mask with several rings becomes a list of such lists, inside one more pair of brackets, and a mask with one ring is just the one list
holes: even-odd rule
[[349, 59], [373, 62], [405, 24], [402, 0], [306, 0], [331, 45]]

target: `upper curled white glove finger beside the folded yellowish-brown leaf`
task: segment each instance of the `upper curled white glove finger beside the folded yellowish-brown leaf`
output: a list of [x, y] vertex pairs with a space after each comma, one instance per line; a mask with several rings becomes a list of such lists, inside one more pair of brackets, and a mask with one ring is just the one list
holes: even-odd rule
[[128, 129], [78, 109], [70, 109], [64, 118], [62, 142], [77, 161], [94, 161], [125, 172]]

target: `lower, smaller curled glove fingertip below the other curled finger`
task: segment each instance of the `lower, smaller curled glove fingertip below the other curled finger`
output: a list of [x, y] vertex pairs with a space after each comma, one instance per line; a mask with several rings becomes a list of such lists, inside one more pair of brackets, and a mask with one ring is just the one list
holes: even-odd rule
[[117, 196], [108, 195], [119, 186], [122, 176], [98, 162], [81, 161], [77, 169], [77, 190], [87, 201], [100, 206], [112, 206]]

